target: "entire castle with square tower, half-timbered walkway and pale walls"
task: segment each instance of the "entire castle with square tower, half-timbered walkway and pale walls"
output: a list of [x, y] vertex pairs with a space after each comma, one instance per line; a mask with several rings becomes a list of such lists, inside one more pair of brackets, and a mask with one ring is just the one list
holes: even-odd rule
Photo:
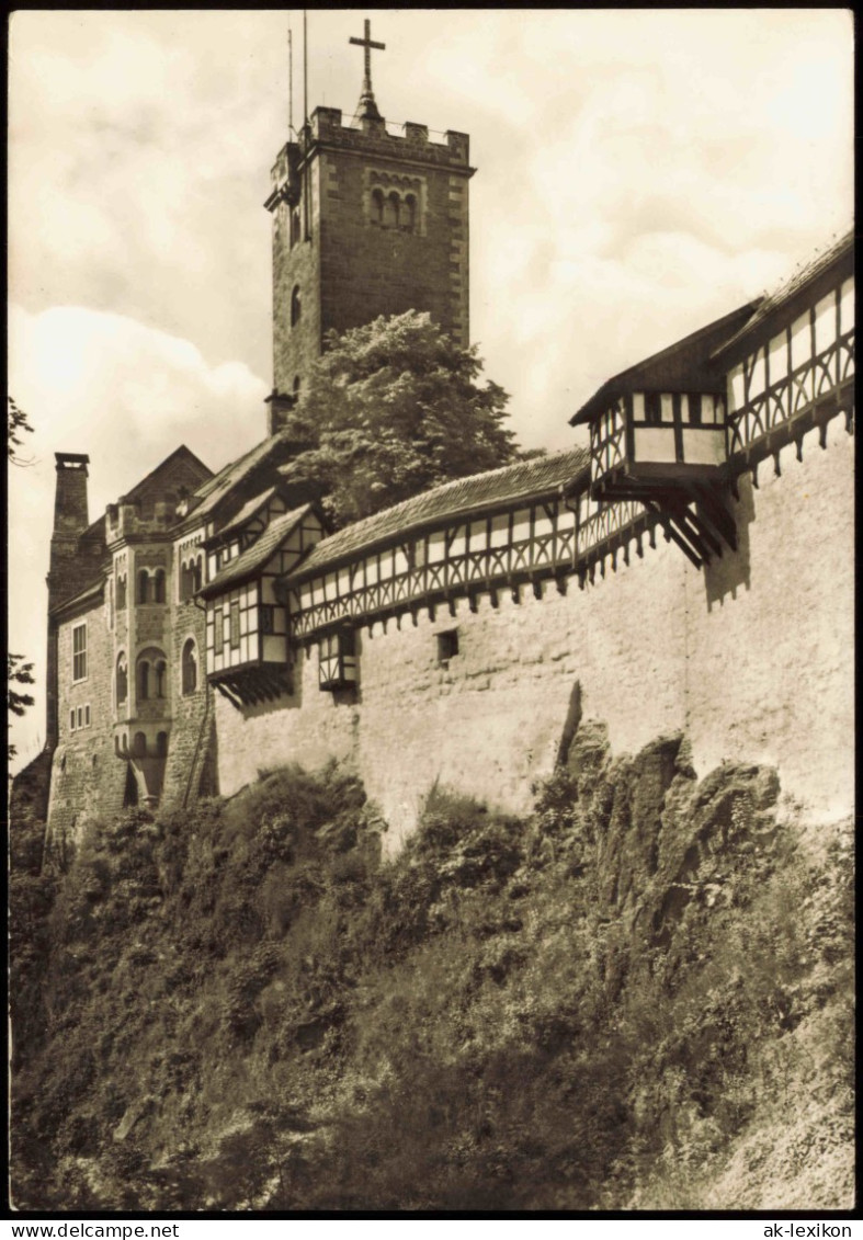
[[853, 236], [604, 383], [589, 448], [327, 533], [279, 425], [322, 334], [413, 306], [467, 342], [467, 139], [376, 113], [277, 160], [267, 438], [217, 475], [180, 448], [92, 525], [57, 456], [51, 838], [336, 756], [394, 848], [434, 784], [523, 810], [577, 717], [848, 812]]

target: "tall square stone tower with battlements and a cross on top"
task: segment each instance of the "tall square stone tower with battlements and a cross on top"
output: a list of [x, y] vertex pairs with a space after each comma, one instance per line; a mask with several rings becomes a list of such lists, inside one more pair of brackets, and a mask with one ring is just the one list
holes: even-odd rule
[[470, 336], [469, 138], [398, 133], [378, 112], [366, 22], [366, 76], [356, 117], [316, 108], [272, 170], [273, 396], [268, 433], [306, 382], [327, 331], [378, 315], [429, 311], [461, 346]]

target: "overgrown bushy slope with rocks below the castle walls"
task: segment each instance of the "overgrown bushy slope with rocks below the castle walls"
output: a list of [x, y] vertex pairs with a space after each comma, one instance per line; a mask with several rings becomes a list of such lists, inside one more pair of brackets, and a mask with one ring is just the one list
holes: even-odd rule
[[336, 768], [19, 857], [17, 1204], [848, 1205], [849, 830], [776, 797], [586, 725], [388, 863]]

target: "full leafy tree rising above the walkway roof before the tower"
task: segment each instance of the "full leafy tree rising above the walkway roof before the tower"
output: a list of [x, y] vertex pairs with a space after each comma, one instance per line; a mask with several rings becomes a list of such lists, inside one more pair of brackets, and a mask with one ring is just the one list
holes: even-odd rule
[[428, 314], [330, 332], [286, 430], [305, 450], [285, 469], [321, 495], [336, 526], [453, 479], [523, 459], [506, 427], [503, 388], [480, 383], [476, 346], [461, 348]]

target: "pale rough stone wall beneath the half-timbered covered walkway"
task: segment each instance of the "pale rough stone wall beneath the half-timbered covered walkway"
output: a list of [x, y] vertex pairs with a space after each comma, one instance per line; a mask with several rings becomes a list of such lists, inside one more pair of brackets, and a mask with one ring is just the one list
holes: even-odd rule
[[[768, 467], [769, 465], [769, 467]], [[822, 816], [853, 797], [853, 439], [842, 419], [827, 449], [739, 480], [740, 546], [707, 573], [658, 538], [644, 559], [542, 600], [501, 591], [476, 614], [458, 600], [358, 635], [356, 702], [317, 688], [317, 651], [300, 655], [295, 696], [237, 711], [216, 702], [219, 785], [232, 794], [285, 761], [352, 760], [398, 847], [435, 781], [513, 811], [547, 775], [574, 686], [585, 719], [615, 753], [686, 730], [698, 774], [723, 759], [776, 765], [784, 789]], [[439, 666], [435, 635], [459, 631]]]

